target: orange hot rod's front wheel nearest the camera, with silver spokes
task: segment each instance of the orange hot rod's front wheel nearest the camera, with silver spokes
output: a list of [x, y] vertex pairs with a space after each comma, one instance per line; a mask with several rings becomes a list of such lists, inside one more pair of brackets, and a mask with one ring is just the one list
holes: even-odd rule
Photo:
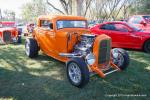
[[84, 87], [89, 82], [89, 70], [82, 58], [73, 58], [67, 62], [67, 78], [78, 88]]

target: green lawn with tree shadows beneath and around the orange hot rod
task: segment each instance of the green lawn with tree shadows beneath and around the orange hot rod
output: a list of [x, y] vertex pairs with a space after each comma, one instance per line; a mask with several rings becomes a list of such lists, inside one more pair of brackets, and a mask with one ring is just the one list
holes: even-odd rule
[[64, 63], [42, 53], [30, 59], [24, 45], [0, 45], [0, 100], [149, 100], [150, 54], [129, 54], [126, 71], [93, 76], [78, 89], [68, 82]]

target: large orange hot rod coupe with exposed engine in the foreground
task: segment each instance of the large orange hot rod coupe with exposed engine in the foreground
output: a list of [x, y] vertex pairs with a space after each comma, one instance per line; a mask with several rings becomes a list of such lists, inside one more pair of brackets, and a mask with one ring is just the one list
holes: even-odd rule
[[32, 37], [25, 42], [28, 57], [36, 57], [39, 50], [65, 62], [69, 82], [79, 88], [95, 73], [105, 77], [126, 69], [129, 64], [125, 50], [111, 50], [111, 38], [91, 34], [87, 20], [79, 16], [40, 16]]

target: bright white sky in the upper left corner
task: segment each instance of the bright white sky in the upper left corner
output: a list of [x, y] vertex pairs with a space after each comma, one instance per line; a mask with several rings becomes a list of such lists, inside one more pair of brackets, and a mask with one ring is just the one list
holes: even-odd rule
[[16, 12], [16, 16], [19, 17], [21, 14], [21, 5], [31, 0], [0, 0], [0, 8], [3, 10], [9, 9]]

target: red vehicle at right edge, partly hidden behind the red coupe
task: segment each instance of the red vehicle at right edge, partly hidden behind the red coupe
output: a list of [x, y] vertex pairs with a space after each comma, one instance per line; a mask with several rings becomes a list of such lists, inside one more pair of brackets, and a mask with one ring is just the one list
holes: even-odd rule
[[128, 23], [150, 32], [150, 15], [134, 15], [129, 18]]

